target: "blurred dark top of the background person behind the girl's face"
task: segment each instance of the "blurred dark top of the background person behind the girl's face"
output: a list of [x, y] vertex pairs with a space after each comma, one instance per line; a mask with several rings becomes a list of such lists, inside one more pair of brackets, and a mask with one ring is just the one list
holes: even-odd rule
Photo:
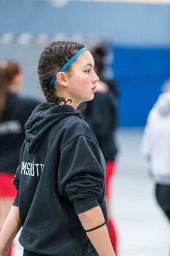
[[106, 92], [96, 92], [94, 100], [84, 103], [82, 114], [94, 130], [105, 160], [114, 161], [118, 153], [118, 109], [113, 90], [109, 88]]

